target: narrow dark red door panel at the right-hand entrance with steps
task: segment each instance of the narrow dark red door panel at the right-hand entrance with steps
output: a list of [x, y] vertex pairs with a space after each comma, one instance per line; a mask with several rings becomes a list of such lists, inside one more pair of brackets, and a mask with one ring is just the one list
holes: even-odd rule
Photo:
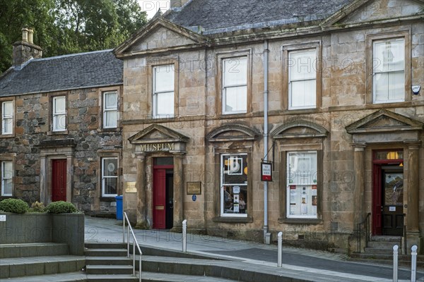
[[372, 168], [372, 234], [382, 235], [382, 166]]

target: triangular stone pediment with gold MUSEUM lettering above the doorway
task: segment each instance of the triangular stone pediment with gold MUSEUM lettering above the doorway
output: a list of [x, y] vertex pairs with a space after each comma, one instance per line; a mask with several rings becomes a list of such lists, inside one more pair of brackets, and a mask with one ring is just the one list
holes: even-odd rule
[[182, 152], [189, 137], [163, 125], [153, 124], [128, 138], [136, 152]]

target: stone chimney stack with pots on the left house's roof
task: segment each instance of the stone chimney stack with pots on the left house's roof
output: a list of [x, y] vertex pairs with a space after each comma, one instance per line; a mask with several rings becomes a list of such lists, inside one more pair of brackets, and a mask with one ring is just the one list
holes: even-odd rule
[[20, 65], [30, 60], [42, 57], [42, 49], [33, 42], [34, 29], [32, 27], [22, 29], [22, 41], [13, 43], [13, 66]]

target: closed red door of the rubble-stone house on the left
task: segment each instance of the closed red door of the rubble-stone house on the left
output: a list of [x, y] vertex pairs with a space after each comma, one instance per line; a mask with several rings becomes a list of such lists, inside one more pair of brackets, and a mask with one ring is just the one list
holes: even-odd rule
[[52, 202], [66, 201], [66, 159], [52, 160]]

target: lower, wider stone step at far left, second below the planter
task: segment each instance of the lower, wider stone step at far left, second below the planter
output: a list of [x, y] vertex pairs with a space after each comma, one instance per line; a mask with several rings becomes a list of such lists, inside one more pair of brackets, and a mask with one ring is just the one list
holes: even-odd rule
[[0, 259], [0, 279], [80, 271], [86, 258], [73, 255]]

